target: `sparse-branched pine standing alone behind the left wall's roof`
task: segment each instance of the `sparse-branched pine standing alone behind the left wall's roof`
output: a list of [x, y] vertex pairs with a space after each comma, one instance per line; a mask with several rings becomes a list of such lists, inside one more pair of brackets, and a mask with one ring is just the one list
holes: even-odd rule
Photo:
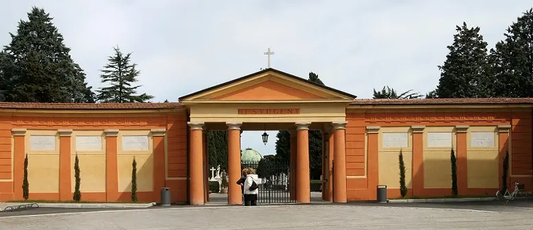
[[137, 64], [131, 63], [131, 53], [124, 55], [118, 47], [113, 47], [114, 56], [109, 56], [109, 63], [102, 70], [102, 83], [111, 84], [109, 87], [97, 90], [98, 101], [113, 103], [147, 102], [154, 97], [146, 93], [137, 94], [137, 88], [141, 86], [131, 86], [137, 81], [140, 72], [137, 71]]

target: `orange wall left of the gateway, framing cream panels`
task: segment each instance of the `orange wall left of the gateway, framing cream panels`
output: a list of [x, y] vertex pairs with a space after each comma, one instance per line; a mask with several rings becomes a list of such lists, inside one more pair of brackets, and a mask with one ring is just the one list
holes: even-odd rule
[[[135, 114], [135, 112], [128, 112], [126, 115], [90, 114], [86, 117], [80, 117], [82, 116], [81, 114], [71, 114], [71, 116], [65, 116], [65, 114], [61, 114], [61, 116], [57, 116], [57, 114], [31, 115], [32, 114], [0, 114], [0, 201], [22, 199], [21, 190], [18, 187], [22, 184], [21, 175], [23, 175], [23, 157], [26, 150], [24, 149], [23, 137], [20, 139], [22, 140], [21, 144], [17, 144], [16, 141], [14, 142], [15, 146], [12, 150], [12, 140], [14, 139], [12, 138], [12, 129], [73, 129], [74, 131], [104, 129], [167, 129], [165, 138], [154, 137], [153, 154], [157, 159], [154, 163], [153, 192], [138, 192], [137, 195], [139, 201], [159, 201], [160, 187], [164, 186], [170, 188], [170, 191], [172, 192], [172, 202], [183, 203], [186, 201], [187, 180], [178, 178], [187, 176], [187, 166], [185, 164], [187, 157], [187, 115], [185, 114], [185, 111], [174, 112], [170, 116], [163, 114]], [[67, 140], [67, 138], [65, 138], [65, 140]], [[60, 142], [58, 144], [60, 144], [61, 148], [69, 147], [69, 142]], [[107, 173], [106, 176], [106, 187], [115, 189], [109, 190], [108, 188], [106, 192], [82, 191], [82, 200], [130, 201], [131, 192], [119, 192], [116, 188], [117, 138], [107, 137], [106, 146], [104, 146], [104, 148], [106, 149], [106, 159], [108, 159], [108, 162], [109, 159], [115, 159], [114, 161], [111, 161], [114, 164], [106, 166], [107, 170], [110, 170], [110, 173]], [[14, 155], [14, 157], [12, 157], [12, 155]], [[160, 159], [158, 157], [160, 157]], [[12, 166], [12, 161], [16, 162], [14, 166]], [[165, 165], [163, 162], [168, 162], [168, 164]], [[165, 168], [167, 170], [165, 170]], [[69, 170], [65, 170], [65, 172], [68, 171], [70, 175], [71, 169], [68, 169]], [[12, 172], [14, 173], [14, 179], [12, 179]], [[65, 180], [71, 179], [70, 176], [60, 177], [61, 180], [63, 180], [63, 178]], [[70, 181], [62, 181], [60, 184], [63, 182], [70, 183]], [[71, 183], [73, 183], [73, 181]], [[58, 193], [32, 193], [30, 186], [30, 199], [58, 200], [59, 197], [60, 194]], [[70, 197], [71, 199], [72, 196], [71, 194], [66, 194], [63, 197]]]

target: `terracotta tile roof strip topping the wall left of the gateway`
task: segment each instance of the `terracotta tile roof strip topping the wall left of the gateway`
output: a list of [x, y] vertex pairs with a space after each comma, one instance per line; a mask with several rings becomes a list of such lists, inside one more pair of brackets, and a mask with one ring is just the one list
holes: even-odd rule
[[0, 109], [16, 110], [161, 110], [182, 107], [181, 103], [16, 103], [0, 102]]

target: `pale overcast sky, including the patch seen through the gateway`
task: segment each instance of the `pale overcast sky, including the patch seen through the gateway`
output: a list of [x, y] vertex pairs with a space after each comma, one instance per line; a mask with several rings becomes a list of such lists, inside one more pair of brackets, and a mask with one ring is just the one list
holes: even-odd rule
[[[190, 92], [267, 66], [300, 77], [317, 73], [328, 86], [359, 98], [388, 85], [422, 94], [438, 83], [455, 25], [481, 27], [489, 47], [531, 0], [469, 1], [29, 1], [0, 7], [0, 44], [10, 42], [32, 5], [44, 8], [94, 88], [113, 46], [133, 52], [140, 90], [154, 101]], [[242, 135], [242, 148], [275, 153], [261, 131]]]

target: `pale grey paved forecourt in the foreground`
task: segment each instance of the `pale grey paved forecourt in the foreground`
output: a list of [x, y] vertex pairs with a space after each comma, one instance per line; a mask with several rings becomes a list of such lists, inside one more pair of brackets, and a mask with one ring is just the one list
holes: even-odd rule
[[433, 206], [272, 205], [110, 210], [0, 217], [0, 229], [533, 229], [530, 207], [518, 209], [508, 205], [488, 211]]

